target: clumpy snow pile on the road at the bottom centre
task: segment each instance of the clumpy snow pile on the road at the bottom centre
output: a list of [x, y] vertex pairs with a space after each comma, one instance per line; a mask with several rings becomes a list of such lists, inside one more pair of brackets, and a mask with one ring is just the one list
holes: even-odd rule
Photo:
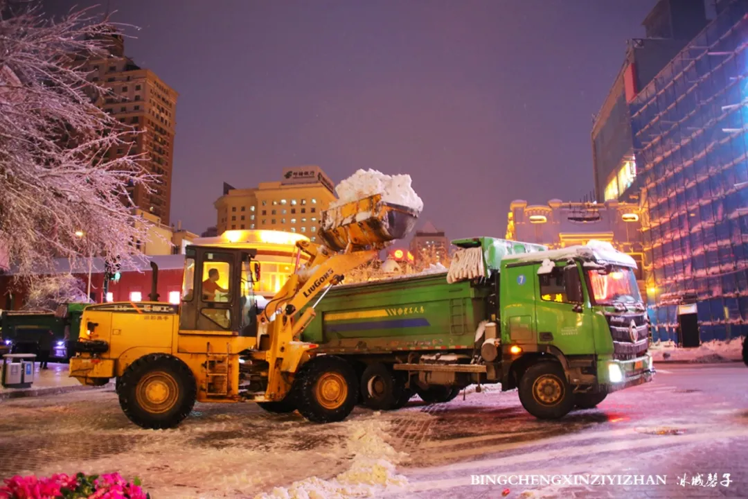
[[395, 464], [405, 454], [398, 453], [384, 441], [388, 426], [386, 421], [357, 422], [346, 441], [346, 450], [353, 454], [348, 471], [331, 480], [310, 477], [288, 488], [276, 487], [270, 494], [263, 493], [255, 499], [371, 498], [380, 496], [390, 487], [406, 486], [408, 480], [395, 473]]

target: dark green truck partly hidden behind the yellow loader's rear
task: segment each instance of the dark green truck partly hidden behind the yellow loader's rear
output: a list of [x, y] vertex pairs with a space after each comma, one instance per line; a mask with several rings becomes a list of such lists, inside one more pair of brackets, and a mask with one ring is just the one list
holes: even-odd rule
[[0, 337], [12, 353], [39, 355], [44, 334], [52, 331], [49, 357], [66, 360], [73, 356], [81, 328], [81, 316], [86, 303], [61, 304], [55, 312], [49, 310], [3, 310], [0, 314]]

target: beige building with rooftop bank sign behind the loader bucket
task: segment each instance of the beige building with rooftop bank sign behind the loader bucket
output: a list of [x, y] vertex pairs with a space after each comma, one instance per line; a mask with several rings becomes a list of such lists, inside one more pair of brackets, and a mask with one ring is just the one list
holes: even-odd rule
[[336, 200], [334, 186], [319, 166], [283, 170], [283, 180], [236, 189], [224, 183], [215, 201], [218, 234], [226, 230], [283, 230], [315, 241], [320, 212]]

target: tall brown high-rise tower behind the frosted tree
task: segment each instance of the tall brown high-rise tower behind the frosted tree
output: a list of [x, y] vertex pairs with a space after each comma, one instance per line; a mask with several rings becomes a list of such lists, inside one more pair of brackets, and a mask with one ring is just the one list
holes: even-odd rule
[[[171, 180], [174, 160], [174, 134], [177, 122], [177, 92], [151, 70], [139, 67], [124, 55], [119, 34], [106, 38], [108, 57], [89, 59], [86, 70], [93, 82], [108, 89], [98, 104], [107, 113], [144, 133], [136, 135], [131, 154], [145, 153], [142, 164], [150, 174], [159, 176], [147, 192], [142, 186], [130, 188], [135, 206], [169, 224], [171, 215]], [[125, 147], [109, 151], [109, 157], [123, 156]]]

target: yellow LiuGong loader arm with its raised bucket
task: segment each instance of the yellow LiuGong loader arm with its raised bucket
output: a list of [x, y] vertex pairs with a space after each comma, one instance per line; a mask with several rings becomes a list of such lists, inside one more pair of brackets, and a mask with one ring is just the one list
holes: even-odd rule
[[299, 251], [312, 257], [309, 277], [292, 275], [260, 316], [260, 327], [267, 328], [270, 338], [269, 349], [258, 352], [269, 364], [266, 400], [286, 397], [302, 358], [316, 346], [298, 341], [314, 319], [314, 307], [307, 308], [295, 322], [293, 316], [322, 290], [343, 281], [347, 272], [373, 260], [390, 242], [406, 236], [417, 215], [406, 206], [385, 203], [381, 195], [374, 195], [322, 212], [318, 236], [325, 245], [296, 243]]

